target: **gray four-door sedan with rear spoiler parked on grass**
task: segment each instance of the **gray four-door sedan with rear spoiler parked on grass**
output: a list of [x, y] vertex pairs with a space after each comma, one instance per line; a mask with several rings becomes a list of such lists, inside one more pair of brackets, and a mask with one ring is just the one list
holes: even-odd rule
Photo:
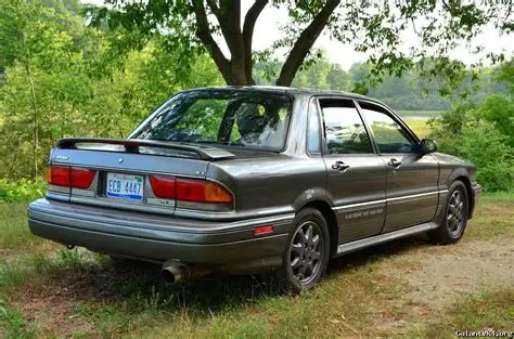
[[360, 248], [457, 243], [480, 192], [373, 99], [264, 87], [180, 92], [128, 139], [60, 140], [48, 181], [37, 236], [162, 263], [171, 283], [279, 269], [297, 291]]

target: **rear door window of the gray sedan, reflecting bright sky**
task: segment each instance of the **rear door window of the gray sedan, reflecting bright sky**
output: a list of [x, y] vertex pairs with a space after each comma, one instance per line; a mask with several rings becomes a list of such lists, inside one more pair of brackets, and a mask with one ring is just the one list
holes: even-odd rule
[[349, 100], [320, 100], [330, 154], [373, 153], [364, 123]]

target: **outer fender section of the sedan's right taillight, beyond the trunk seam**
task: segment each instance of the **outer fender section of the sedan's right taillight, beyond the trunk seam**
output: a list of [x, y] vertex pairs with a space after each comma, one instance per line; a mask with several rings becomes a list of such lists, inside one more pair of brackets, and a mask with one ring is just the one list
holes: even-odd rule
[[195, 203], [232, 203], [232, 194], [220, 184], [191, 180], [177, 179], [177, 199]]

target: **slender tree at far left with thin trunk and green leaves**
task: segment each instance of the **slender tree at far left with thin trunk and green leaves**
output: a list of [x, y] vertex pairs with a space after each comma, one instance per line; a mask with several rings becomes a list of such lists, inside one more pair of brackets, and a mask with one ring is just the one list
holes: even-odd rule
[[0, 0], [0, 66], [20, 66], [29, 94], [35, 178], [39, 171], [40, 130], [36, 73], [48, 71], [50, 65], [54, 70], [69, 66], [74, 41], [64, 28], [76, 22], [65, 14], [64, 3], [59, 1]]

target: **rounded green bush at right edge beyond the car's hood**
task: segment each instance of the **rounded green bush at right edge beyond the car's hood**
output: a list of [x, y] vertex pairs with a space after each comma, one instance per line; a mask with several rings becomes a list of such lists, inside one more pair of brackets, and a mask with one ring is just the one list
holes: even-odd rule
[[431, 138], [439, 142], [441, 152], [474, 164], [477, 181], [486, 191], [512, 191], [512, 101], [496, 94], [485, 97], [476, 106], [457, 106], [431, 122]]

